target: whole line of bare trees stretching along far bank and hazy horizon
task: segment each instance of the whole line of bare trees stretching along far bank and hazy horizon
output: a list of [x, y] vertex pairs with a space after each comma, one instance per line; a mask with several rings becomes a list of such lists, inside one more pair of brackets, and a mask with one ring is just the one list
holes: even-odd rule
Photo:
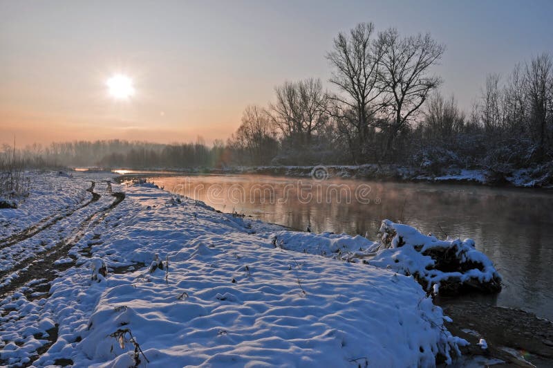
[[442, 80], [432, 73], [444, 50], [428, 34], [358, 24], [339, 33], [326, 55], [332, 91], [313, 78], [283, 82], [267, 106], [245, 108], [226, 142], [63, 142], [19, 155], [30, 165], [133, 168], [400, 163], [433, 172], [509, 172], [550, 165], [551, 55], [517, 64], [509, 75], [489, 75], [465, 112], [440, 93]]

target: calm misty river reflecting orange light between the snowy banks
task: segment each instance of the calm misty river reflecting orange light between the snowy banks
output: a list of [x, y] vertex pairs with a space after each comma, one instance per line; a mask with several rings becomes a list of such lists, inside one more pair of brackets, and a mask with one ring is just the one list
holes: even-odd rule
[[503, 276], [485, 297], [553, 320], [553, 192], [465, 184], [315, 181], [261, 175], [152, 175], [165, 190], [294, 229], [378, 239], [382, 219], [472, 238]]

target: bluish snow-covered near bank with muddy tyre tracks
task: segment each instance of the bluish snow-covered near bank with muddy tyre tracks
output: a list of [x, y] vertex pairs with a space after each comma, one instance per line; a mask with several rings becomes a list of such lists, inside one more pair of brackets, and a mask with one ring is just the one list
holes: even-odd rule
[[[65, 179], [75, 203], [91, 195], [79, 196], [86, 178]], [[150, 185], [114, 184], [119, 203], [91, 180], [97, 201], [0, 248], [0, 364], [417, 367], [464, 343], [413, 277], [328, 257], [377, 243], [283, 231]], [[43, 255], [57, 278], [30, 275]], [[156, 257], [168, 273], [150, 272]], [[108, 275], [91, 280], [102, 262]]]

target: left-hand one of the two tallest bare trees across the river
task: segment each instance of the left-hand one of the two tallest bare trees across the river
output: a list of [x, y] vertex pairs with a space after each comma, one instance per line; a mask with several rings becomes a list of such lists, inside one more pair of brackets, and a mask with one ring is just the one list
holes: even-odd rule
[[382, 53], [371, 38], [373, 32], [372, 23], [357, 24], [349, 34], [339, 33], [332, 51], [326, 55], [334, 67], [330, 83], [341, 92], [331, 97], [336, 102], [335, 117], [348, 125], [350, 136], [355, 131], [355, 139], [350, 140], [354, 160], [366, 154], [369, 127], [381, 107], [379, 61]]

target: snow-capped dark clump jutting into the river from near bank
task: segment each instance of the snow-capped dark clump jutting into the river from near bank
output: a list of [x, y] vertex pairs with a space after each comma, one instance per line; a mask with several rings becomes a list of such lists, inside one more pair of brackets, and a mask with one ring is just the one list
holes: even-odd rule
[[368, 264], [413, 275], [428, 293], [501, 290], [501, 277], [494, 264], [476, 250], [472, 239], [439, 240], [390, 220], [382, 221], [380, 232], [384, 249]]

